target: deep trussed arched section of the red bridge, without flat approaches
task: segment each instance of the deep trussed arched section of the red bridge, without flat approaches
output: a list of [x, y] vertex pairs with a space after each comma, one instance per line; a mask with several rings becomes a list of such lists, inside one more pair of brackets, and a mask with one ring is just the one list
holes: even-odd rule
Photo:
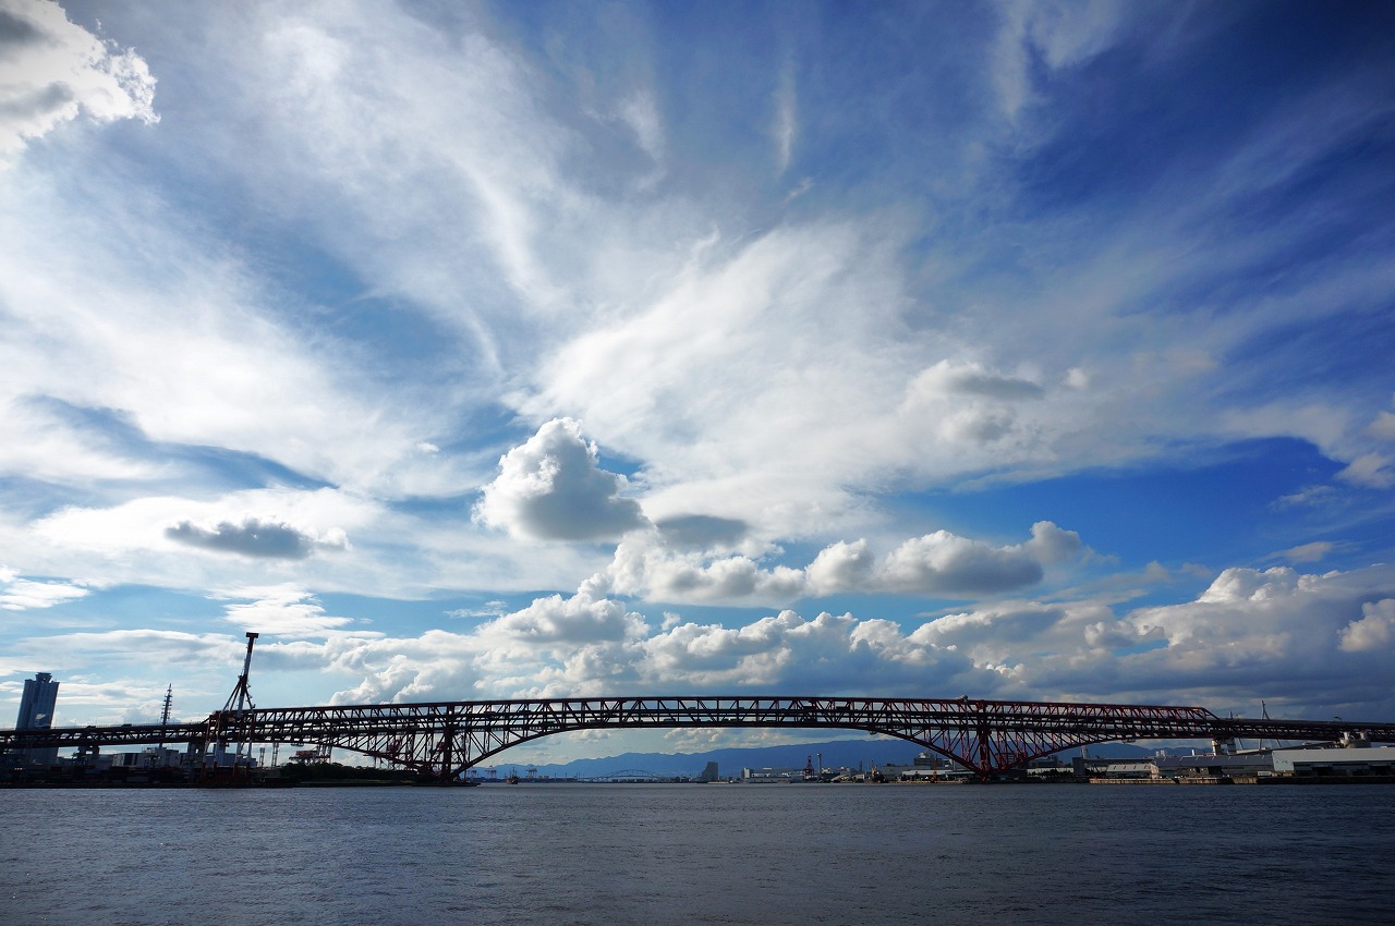
[[[982, 778], [1076, 746], [1211, 738], [1198, 707], [859, 697], [596, 697], [255, 710], [244, 736], [315, 742], [456, 778], [543, 736], [677, 727], [848, 729], [904, 739]], [[230, 739], [237, 739], [232, 735]]]

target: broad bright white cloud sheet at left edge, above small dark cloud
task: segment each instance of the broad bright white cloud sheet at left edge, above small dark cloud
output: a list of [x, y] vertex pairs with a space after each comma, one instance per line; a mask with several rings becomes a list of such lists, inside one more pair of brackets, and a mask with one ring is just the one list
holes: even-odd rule
[[[458, 463], [414, 450], [423, 432], [444, 430], [439, 406], [346, 364], [349, 344], [276, 318], [285, 294], [226, 243], [183, 227], [169, 204], [70, 187], [35, 179], [4, 190], [0, 424], [17, 439], [0, 446], [0, 471], [75, 484], [188, 478], [186, 462], [153, 446], [169, 443], [384, 495], [460, 491]], [[82, 414], [117, 420], [133, 438], [116, 441]]]

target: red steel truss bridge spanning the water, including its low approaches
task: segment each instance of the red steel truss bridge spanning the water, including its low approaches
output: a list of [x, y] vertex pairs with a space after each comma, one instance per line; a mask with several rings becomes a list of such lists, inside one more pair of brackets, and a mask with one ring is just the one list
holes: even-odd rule
[[[244, 672], [246, 679], [246, 672]], [[1395, 742], [1395, 724], [1223, 718], [1202, 707], [891, 697], [575, 697], [222, 710], [193, 724], [0, 729], [0, 750], [140, 743], [314, 743], [455, 780], [511, 746], [578, 729], [858, 729], [946, 756], [983, 780], [1032, 759], [1136, 739]]]

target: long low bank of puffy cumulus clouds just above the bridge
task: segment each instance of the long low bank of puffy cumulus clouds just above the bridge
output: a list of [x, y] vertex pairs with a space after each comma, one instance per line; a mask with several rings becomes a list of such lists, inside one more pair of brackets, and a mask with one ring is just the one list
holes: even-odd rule
[[[282, 635], [272, 662], [359, 682], [333, 703], [654, 693], [813, 693], [1196, 703], [1214, 710], [1391, 707], [1373, 665], [1395, 642], [1395, 569], [1299, 575], [1229, 569], [1196, 601], [1117, 615], [1106, 601], [1003, 601], [914, 629], [792, 609], [735, 622], [668, 614], [658, 625], [612, 597], [604, 576], [466, 632], [365, 633], [294, 586], [246, 589], [239, 626]], [[321, 639], [315, 639], [321, 637]], [[82, 653], [211, 646], [190, 635], [46, 639], [56, 665]], [[236, 640], [219, 644], [229, 661]], [[169, 657], [159, 657], [169, 658]], [[206, 658], [206, 654], [205, 654]], [[1364, 667], [1364, 671], [1353, 671]], [[1343, 707], [1343, 715], [1346, 708]]]

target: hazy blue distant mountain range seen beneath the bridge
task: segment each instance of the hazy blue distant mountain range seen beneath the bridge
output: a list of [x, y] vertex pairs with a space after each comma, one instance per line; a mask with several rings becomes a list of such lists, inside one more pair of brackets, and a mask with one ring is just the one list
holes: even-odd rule
[[[1127, 743], [1099, 743], [1088, 746], [1091, 756], [1109, 756], [1117, 759], [1144, 757], [1154, 754], [1154, 749], [1130, 746]], [[834, 739], [823, 743], [798, 743], [791, 746], [756, 746], [748, 749], [713, 749], [702, 753], [621, 753], [619, 756], [605, 756], [604, 759], [576, 759], [565, 764], [531, 766], [529, 763], [508, 761], [508, 753], [499, 756], [501, 761], [494, 763], [499, 777], [511, 771], [523, 777], [529, 768], [536, 768], [540, 778], [601, 778], [618, 771], [649, 771], [658, 777], [692, 777], [696, 778], [709, 761], [717, 763], [717, 774], [723, 778], [741, 775], [742, 768], [804, 768], [810, 759], [815, 766], [820, 761], [824, 768], [858, 767], [869, 768], [876, 766], [910, 766], [923, 746], [901, 739]], [[1078, 756], [1078, 749], [1059, 753], [1066, 761]], [[822, 760], [819, 759], [822, 756]], [[477, 771], [487, 774], [488, 766], [477, 767]]]

